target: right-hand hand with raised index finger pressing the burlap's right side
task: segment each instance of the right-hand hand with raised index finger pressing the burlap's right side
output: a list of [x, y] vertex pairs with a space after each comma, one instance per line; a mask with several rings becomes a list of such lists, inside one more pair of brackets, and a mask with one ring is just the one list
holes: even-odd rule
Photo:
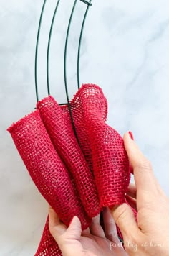
[[137, 209], [137, 222], [127, 204], [115, 206], [112, 216], [122, 232], [125, 250], [129, 255], [169, 255], [169, 199], [129, 133], [124, 143], [135, 178], [126, 199]]

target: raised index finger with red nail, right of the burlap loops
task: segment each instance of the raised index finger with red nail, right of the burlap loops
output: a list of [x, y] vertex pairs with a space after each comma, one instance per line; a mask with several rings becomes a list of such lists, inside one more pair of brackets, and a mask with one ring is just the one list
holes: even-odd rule
[[136, 143], [130, 138], [130, 134], [128, 132], [124, 135], [124, 144], [130, 164], [134, 170], [137, 191], [141, 189], [151, 191], [152, 193], [152, 191], [155, 191], [156, 189], [156, 180], [150, 162], [139, 150]]

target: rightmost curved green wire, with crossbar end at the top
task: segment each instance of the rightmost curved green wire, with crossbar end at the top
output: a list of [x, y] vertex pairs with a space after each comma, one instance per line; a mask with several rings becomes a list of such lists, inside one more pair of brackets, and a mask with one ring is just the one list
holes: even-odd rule
[[81, 32], [80, 32], [80, 36], [79, 36], [79, 47], [78, 47], [78, 55], [77, 55], [77, 86], [78, 89], [80, 88], [80, 81], [79, 81], [79, 59], [80, 59], [80, 50], [81, 50], [81, 44], [82, 44], [82, 36], [83, 36], [83, 30], [84, 30], [84, 24], [87, 18], [87, 13], [89, 11], [90, 6], [92, 6], [92, 0], [90, 0], [89, 2], [85, 1], [85, 0], [80, 0], [83, 1], [85, 4], [87, 4], [87, 9], [86, 12], [84, 14], [84, 19], [82, 22], [82, 28], [81, 28]]

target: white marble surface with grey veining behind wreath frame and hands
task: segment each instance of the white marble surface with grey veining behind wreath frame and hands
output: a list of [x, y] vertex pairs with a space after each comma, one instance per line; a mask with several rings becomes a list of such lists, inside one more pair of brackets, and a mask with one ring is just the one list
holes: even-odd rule
[[[0, 0], [0, 256], [37, 249], [47, 204], [6, 128], [35, 106], [34, 47], [43, 1]], [[45, 58], [56, 1], [48, 0], [39, 47], [40, 98], [47, 95]], [[61, 1], [52, 37], [52, 95], [65, 101], [63, 54], [72, 0]], [[70, 95], [77, 90], [77, 42], [85, 4], [78, 1], [68, 55]], [[108, 123], [132, 130], [169, 195], [169, 2], [93, 0], [82, 42], [81, 82], [97, 83], [109, 103]]]

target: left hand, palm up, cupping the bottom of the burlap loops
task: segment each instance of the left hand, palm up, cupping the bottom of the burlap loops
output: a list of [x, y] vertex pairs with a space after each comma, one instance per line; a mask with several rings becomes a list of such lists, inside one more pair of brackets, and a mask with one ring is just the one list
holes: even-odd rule
[[[100, 215], [92, 219], [90, 228], [82, 231], [77, 216], [67, 228], [55, 211], [49, 208], [49, 230], [62, 251], [63, 256], [126, 256], [127, 253], [117, 236], [115, 221], [109, 209], [103, 211], [105, 232], [100, 225]], [[113, 248], [111, 244], [117, 244]], [[118, 245], [120, 244], [120, 246]]]

